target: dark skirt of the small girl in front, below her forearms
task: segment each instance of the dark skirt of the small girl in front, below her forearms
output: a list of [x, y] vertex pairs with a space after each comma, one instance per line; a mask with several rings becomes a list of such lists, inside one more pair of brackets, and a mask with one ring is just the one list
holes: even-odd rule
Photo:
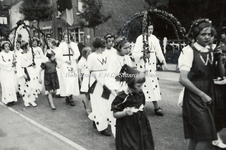
[[154, 150], [151, 126], [145, 112], [116, 121], [116, 150]]

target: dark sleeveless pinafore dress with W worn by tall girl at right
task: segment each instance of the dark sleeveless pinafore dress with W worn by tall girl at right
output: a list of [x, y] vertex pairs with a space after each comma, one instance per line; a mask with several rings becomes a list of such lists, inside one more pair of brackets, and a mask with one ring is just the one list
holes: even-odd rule
[[[198, 95], [185, 88], [183, 100], [185, 139], [205, 142], [213, 141], [217, 139], [213, 119], [213, 65], [209, 61], [207, 65], [203, 63], [203, 60], [207, 59], [207, 55], [212, 59], [212, 52], [199, 52], [195, 47], [192, 47], [192, 49], [194, 52], [194, 60], [188, 78], [198, 89], [208, 94], [212, 98], [213, 103], [207, 104], [203, 102]], [[203, 60], [201, 58], [203, 58]]]

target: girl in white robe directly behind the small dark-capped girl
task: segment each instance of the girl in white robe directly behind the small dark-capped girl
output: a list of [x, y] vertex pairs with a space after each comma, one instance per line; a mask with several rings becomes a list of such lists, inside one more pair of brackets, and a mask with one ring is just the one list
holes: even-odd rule
[[113, 112], [111, 111], [111, 104], [120, 91], [127, 89], [126, 82], [120, 81], [120, 71], [124, 65], [132, 67], [132, 61], [128, 56], [128, 54], [131, 52], [131, 44], [125, 38], [118, 37], [116, 39], [114, 47], [117, 50], [117, 54], [112, 55], [112, 57], [110, 57], [109, 59], [108, 69], [105, 78], [105, 85], [112, 93], [109, 95], [108, 109], [111, 131], [115, 137], [116, 119], [113, 117]]

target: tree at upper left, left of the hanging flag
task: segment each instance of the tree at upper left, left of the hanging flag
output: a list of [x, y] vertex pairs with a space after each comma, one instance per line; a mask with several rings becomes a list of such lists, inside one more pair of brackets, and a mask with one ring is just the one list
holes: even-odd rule
[[20, 13], [24, 14], [24, 20], [36, 20], [38, 28], [40, 21], [51, 19], [53, 11], [49, 0], [23, 0], [20, 5]]

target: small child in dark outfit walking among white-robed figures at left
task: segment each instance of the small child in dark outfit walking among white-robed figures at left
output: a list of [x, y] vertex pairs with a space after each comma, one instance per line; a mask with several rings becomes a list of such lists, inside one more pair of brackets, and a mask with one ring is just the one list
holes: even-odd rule
[[[50, 51], [46, 54], [46, 57], [49, 58], [49, 61], [42, 63], [41, 68], [42, 68], [42, 70], [45, 70], [44, 85], [45, 85], [46, 91], [48, 91], [47, 98], [48, 98], [51, 109], [55, 110], [56, 107], [53, 103], [52, 93], [55, 92], [57, 89], [59, 89], [59, 81], [58, 81], [57, 70], [56, 70], [57, 63], [56, 63], [55, 53], [53, 51]], [[39, 76], [41, 76], [41, 71], [39, 73]], [[39, 82], [42, 83], [41, 78], [39, 78]]]

